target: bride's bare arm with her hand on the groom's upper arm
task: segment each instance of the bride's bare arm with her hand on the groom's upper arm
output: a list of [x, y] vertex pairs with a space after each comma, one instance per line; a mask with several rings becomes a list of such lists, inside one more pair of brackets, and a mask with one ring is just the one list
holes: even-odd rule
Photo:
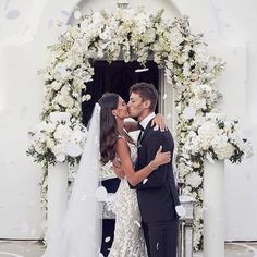
[[154, 160], [146, 167], [135, 172], [133, 162], [131, 160], [131, 152], [127, 143], [124, 138], [119, 138], [117, 142], [117, 152], [121, 159], [122, 170], [132, 186], [137, 185], [144, 181], [154, 170], [159, 166], [170, 161], [170, 151], [161, 152], [161, 148], [157, 151]]

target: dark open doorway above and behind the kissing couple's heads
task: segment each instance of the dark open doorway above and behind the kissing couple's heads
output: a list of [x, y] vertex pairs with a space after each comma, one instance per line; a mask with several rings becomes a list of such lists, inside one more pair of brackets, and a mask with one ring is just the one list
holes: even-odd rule
[[107, 61], [95, 61], [95, 75], [93, 81], [86, 85], [86, 93], [91, 95], [91, 99], [82, 105], [83, 123], [87, 125], [95, 103], [106, 91], [117, 93], [128, 101], [130, 87], [137, 82], [152, 83], [158, 90], [159, 70], [157, 64], [154, 61], [147, 61], [148, 71], [135, 72], [142, 68], [136, 61], [128, 63], [114, 61], [111, 64]]

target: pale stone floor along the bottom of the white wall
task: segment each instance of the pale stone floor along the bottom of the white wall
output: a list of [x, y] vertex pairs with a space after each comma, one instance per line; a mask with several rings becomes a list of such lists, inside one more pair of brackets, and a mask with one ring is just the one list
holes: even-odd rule
[[[37, 241], [0, 241], [0, 257], [40, 257], [44, 249]], [[203, 253], [195, 253], [194, 257], [203, 257]], [[227, 243], [225, 257], [257, 257], [257, 242]]]

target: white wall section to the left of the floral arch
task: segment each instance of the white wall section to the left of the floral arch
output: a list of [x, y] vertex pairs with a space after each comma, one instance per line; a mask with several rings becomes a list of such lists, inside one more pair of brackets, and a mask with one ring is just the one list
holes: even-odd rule
[[[39, 120], [47, 46], [59, 35], [57, 21], [76, 1], [1, 1], [0, 10], [0, 238], [39, 238], [40, 167], [26, 157], [27, 132]], [[61, 7], [61, 8], [60, 8]], [[7, 19], [19, 10], [14, 20]]]

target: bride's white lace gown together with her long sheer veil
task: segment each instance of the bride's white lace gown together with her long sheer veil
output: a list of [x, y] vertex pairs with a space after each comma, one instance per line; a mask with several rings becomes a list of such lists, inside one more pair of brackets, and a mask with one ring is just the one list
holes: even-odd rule
[[[96, 103], [69, 207], [42, 257], [98, 257], [101, 246], [102, 204], [97, 197], [100, 171], [100, 106]], [[128, 144], [132, 160], [135, 145]], [[115, 231], [109, 257], [147, 257], [136, 192], [122, 180], [117, 192]]]

